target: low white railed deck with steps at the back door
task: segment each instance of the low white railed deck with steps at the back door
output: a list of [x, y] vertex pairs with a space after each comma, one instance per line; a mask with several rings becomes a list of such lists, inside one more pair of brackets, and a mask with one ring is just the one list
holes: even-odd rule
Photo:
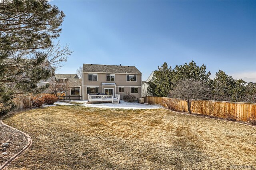
[[102, 102], [112, 102], [113, 104], [119, 104], [120, 95], [88, 95], [88, 101], [91, 103], [102, 103]]

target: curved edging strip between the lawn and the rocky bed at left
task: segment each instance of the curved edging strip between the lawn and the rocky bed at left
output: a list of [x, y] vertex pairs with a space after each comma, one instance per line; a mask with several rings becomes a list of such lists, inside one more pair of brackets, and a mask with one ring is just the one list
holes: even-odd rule
[[[6, 115], [5, 115], [6, 116]], [[5, 126], [7, 126], [7, 127], [10, 127], [10, 128], [12, 128], [12, 129], [14, 129], [14, 130], [16, 130], [16, 131], [18, 131], [18, 132], [21, 132], [21, 133], [23, 133], [23, 134], [25, 134], [27, 137], [28, 137], [28, 144], [22, 149], [22, 150], [20, 150], [18, 153], [16, 153], [14, 156], [12, 156], [9, 160], [7, 160], [6, 162], [4, 162], [4, 164], [2, 164], [1, 166], [0, 166], [0, 170], [3, 170], [8, 164], [10, 164], [13, 160], [15, 160], [18, 156], [20, 156], [20, 154], [22, 154], [23, 152], [25, 152], [28, 148], [30, 148], [30, 146], [32, 145], [32, 138], [28, 135], [28, 134], [26, 134], [26, 133], [24, 133], [24, 132], [22, 132], [22, 131], [20, 131], [20, 130], [18, 130], [18, 129], [16, 129], [16, 128], [14, 128], [14, 127], [11, 127], [11, 126], [9, 126], [9, 125], [6, 125], [5, 123], [3, 123], [3, 118], [5, 117], [5, 116], [3, 116], [2, 118], [0, 118], [0, 123], [2, 124], [2, 125], [5, 125]]]

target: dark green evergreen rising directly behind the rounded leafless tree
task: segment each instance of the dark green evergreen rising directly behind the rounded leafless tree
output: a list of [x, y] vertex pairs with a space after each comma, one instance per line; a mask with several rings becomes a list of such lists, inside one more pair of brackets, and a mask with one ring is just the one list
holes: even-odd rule
[[175, 67], [175, 80], [180, 79], [194, 79], [207, 83], [210, 80], [210, 71], [206, 73], [206, 65], [198, 66], [194, 61], [185, 63], [184, 65], [176, 65]]

